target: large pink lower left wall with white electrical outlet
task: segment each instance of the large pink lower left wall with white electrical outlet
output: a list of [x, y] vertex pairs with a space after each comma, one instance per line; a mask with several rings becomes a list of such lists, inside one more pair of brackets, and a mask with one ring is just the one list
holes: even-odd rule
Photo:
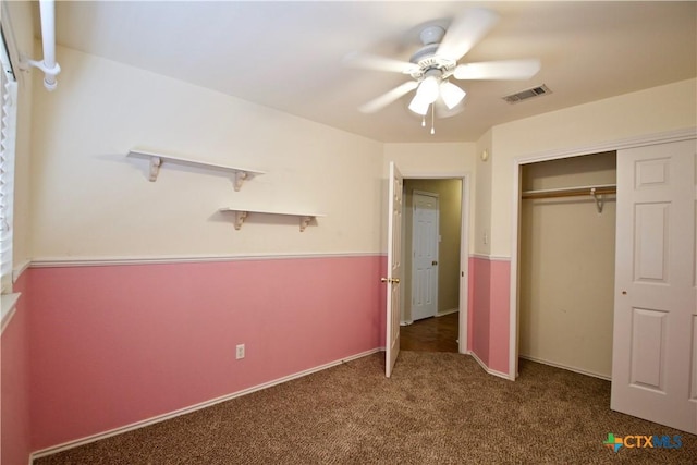
[[384, 256], [29, 269], [32, 450], [381, 346], [383, 270]]

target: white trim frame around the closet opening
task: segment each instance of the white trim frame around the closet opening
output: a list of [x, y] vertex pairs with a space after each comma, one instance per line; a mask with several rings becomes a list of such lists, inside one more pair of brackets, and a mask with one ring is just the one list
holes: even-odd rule
[[[610, 140], [608, 143], [578, 146], [567, 149], [551, 150], [533, 155], [524, 155], [513, 159], [513, 199], [512, 199], [512, 233], [511, 233], [511, 302], [510, 302], [510, 326], [509, 326], [509, 372], [508, 378], [512, 381], [518, 375], [518, 256], [521, 246], [521, 173], [523, 164], [536, 163], [538, 161], [559, 160], [562, 158], [580, 157], [584, 155], [599, 154], [603, 151], [622, 150], [625, 148], [641, 147], [655, 144], [667, 144], [695, 138], [697, 127], [687, 127], [677, 131], [641, 135], [637, 137]], [[613, 309], [614, 313], [614, 309]]]

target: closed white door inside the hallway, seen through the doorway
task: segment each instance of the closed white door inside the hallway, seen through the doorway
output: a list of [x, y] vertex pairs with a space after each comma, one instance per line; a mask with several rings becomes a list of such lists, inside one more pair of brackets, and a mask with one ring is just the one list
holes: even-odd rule
[[414, 192], [412, 220], [412, 320], [438, 310], [438, 196]]

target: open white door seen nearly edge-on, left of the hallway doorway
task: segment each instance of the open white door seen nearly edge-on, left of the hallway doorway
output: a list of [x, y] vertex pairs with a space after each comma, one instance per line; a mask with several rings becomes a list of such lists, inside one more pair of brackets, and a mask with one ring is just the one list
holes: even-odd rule
[[388, 285], [387, 334], [384, 338], [384, 376], [392, 375], [400, 353], [400, 280], [402, 279], [402, 197], [404, 179], [394, 162], [390, 162], [390, 188], [388, 200]]

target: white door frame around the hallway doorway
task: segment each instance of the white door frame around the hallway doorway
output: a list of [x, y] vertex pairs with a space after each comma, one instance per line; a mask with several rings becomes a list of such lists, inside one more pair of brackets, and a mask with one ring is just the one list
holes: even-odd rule
[[[469, 328], [469, 209], [470, 179], [469, 172], [433, 173], [420, 171], [402, 171], [404, 180], [461, 180], [462, 197], [460, 204], [460, 306], [458, 306], [458, 344], [457, 352], [468, 354]], [[411, 247], [409, 247], [411, 248]]]

